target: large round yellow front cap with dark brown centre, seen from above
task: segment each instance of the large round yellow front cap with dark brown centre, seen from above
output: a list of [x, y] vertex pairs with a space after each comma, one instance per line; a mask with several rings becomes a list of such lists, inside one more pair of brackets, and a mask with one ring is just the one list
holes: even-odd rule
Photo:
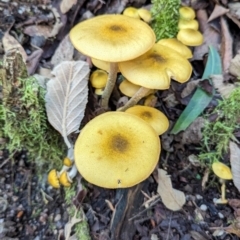
[[144, 120], [125, 112], [103, 113], [82, 129], [74, 148], [75, 164], [90, 183], [131, 187], [156, 167], [160, 139]]

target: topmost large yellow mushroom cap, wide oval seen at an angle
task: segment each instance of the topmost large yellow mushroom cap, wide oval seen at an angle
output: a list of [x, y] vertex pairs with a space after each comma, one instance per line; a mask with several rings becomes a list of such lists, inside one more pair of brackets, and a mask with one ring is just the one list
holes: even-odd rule
[[148, 51], [156, 36], [139, 19], [120, 14], [101, 15], [85, 20], [70, 31], [73, 46], [83, 54], [106, 62], [121, 62]]

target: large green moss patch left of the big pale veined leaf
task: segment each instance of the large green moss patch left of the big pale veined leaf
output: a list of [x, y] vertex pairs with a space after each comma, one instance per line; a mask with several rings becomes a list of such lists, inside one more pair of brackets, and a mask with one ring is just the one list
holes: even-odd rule
[[[5, 72], [0, 80], [6, 85]], [[45, 89], [34, 77], [18, 77], [18, 87], [6, 92], [0, 103], [0, 137], [7, 140], [4, 148], [10, 153], [26, 149], [30, 161], [35, 162], [37, 172], [46, 172], [61, 165], [66, 146], [61, 135], [52, 128], [45, 110]], [[5, 81], [5, 82], [4, 82]]]

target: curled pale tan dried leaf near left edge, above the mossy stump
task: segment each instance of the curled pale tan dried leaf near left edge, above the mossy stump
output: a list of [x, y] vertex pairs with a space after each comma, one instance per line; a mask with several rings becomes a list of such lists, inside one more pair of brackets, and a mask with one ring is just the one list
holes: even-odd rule
[[4, 48], [5, 52], [15, 48], [21, 53], [24, 62], [26, 62], [27, 54], [26, 54], [25, 50], [23, 49], [22, 45], [13, 36], [11, 36], [8, 32], [5, 32], [5, 34], [2, 38], [2, 43], [3, 43], [3, 48]]

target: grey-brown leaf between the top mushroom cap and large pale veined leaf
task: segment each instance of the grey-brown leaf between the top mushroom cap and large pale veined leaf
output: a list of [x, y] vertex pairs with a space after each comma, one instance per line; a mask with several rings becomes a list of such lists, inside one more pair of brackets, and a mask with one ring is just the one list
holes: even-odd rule
[[69, 39], [69, 35], [66, 35], [52, 56], [51, 63], [56, 66], [63, 61], [70, 61], [73, 59], [73, 53], [74, 47]]

